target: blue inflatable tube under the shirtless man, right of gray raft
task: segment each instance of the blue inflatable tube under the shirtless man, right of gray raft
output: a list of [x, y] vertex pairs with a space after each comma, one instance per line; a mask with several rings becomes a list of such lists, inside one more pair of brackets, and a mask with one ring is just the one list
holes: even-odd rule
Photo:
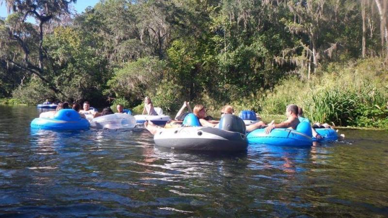
[[310, 123], [302, 122], [296, 130], [275, 128], [270, 134], [265, 134], [265, 129], [256, 129], [247, 134], [246, 138], [250, 144], [269, 144], [281, 146], [311, 146], [311, 126]]

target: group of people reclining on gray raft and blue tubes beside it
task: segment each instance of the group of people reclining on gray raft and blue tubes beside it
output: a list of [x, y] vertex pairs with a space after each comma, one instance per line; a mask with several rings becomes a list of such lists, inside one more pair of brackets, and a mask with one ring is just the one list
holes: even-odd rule
[[[150, 102], [150, 99], [148, 98], [146, 102]], [[184, 112], [186, 108], [187, 108], [187, 112]], [[145, 107], [145, 110], [146, 110], [146, 107]], [[195, 105], [194, 109], [191, 109], [190, 103], [185, 101], [183, 103], [182, 107], [179, 109], [177, 115], [175, 116], [175, 119], [170, 124], [167, 124], [165, 127], [181, 126], [184, 118], [189, 113], [194, 113], [194, 115], [198, 118], [200, 125], [202, 125], [202, 126], [216, 127], [219, 124], [219, 121], [216, 121], [216, 120], [212, 119], [212, 117], [207, 116], [206, 109], [203, 105]], [[234, 114], [233, 107], [230, 105], [224, 106], [221, 109], [221, 117], [224, 114]], [[275, 121], [272, 121], [269, 124], [266, 124], [263, 121], [259, 121], [257, 123], [246, 126], [246, 131], [252, 132], [255, 129], [265, 128], [265, 133], [269, 134], [274, 128], [296, 129], [296, 126], [300, 122], [303, 122], [304, 119], [306, 119], [303, 117], [303, 109], [294, 105], [294, 104], [287, 106], [286, 116], [287, 116], [287, 120], [283, 121], [279, 124], [275, 124]], [[150, 121], [145, 122], [145, 127], [152, 134], [156, 134], [158, 131], [163, 129], [163, 127], [155, 125]], [[312, 126], [311, 130], [312, 130], [313, 137], [316, 137], [317, 139], [321, 139], [322, 136], [320, 136], [315, 131], [314, 128], [330, 128], [330, 126], [328, 124], [321, 125], [319, 123], [316, 123]]]

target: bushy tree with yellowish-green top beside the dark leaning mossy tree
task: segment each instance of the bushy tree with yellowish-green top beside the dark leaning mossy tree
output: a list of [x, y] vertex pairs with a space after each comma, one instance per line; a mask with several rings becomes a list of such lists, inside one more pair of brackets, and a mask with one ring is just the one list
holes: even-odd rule
[[88, 35], [70, 27], [58, 27], [47, 40], [45, 47], [54, 62], [53, 81], [65, 94], [60, 100], [82, 101], [102, 98], [109, 78], [105, 60], [97, 56]]

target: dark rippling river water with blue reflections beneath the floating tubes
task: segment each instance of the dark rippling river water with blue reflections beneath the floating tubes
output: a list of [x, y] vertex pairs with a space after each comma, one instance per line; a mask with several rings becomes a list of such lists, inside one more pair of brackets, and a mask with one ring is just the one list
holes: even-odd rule
[[142, 128], [34, 131], [38, 114], [0, 105], [0, 215], [388, 217], [387, 131], [217, 154], [158, 148]]

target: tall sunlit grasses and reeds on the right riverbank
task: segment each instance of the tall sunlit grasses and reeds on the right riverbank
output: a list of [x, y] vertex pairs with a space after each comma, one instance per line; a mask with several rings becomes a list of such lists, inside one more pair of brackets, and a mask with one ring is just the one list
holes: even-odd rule
[[388, 70], [381, 63], [379, 59], [332, 63], [320, 69], [323, 76], [308, 83], [284, 80], [264, 95], [261, 113], [282, 114], [293, 103], [313, 122], [387, 128]]

